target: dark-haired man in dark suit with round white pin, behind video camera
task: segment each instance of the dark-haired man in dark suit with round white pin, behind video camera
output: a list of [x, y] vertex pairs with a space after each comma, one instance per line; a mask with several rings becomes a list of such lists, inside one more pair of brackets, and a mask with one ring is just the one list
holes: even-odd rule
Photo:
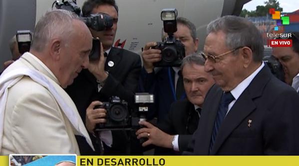
[[[126, 100], [129, 106], [134, 103], [134, 93], [137, 90], [138, 78], [141, 70], [140, 56], [120, 48], [112, 47], [118, 21], [118, 7], [114, 0], [87, 0], [82, 7], [84, 16], [94, 13], [106, 13], [113, 18], [113, 26], [103, 31], [90, 29], [93, 37], [98, 37], [102, 42], [104, 53], [98, 60], [90, 61], [88, 70], [82, 70], [74, 83], [67, 87], [66, 91], [73, 99], [87, 130], [93, 133], [95, 125], [104, 122], [106, 116], [105, 109], [94, 109], [100, 105], [100, 101], [108, 101], [111, 96], [119, 96]], [[102, 146], [105, 154], [125, 155], [127, 134], [124, 131], [101, 132]], [[92, 136], [93, 137], [93, 136]], [[78, 139], [81, 155], [100, 155], [98, 151], [93, 152], [86, 144], [85, 140]], [[93, 142], [95, 138], [93, 137]], [[132, 152], [138, 155], [139, 153]]]

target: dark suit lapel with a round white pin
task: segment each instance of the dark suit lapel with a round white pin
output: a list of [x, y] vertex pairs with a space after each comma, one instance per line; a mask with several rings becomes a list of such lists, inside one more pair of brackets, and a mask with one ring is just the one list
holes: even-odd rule
[[120, 56], [121, 51], [121, 49], [115, 47], [111, 48], [109, 55], [106, 59], [105, 71], [112, 72], [115, 68], [117, 68], [116, 66], [119, 64], [121, 58], [123, 58]]

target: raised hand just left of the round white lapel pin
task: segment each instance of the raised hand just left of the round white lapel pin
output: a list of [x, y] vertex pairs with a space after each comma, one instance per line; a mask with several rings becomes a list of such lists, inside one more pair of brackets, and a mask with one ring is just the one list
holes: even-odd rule
[[104, 57], [104, 49], [102, 43], [100, 43], [101, 51], [100, 51], [100, 58], [95, 61], [89, 61], [88, 70], [93, 76], [99, 80], [104, 81], [107, 79], [108, 75], [104, 72], [105, 68], [105, 57]]

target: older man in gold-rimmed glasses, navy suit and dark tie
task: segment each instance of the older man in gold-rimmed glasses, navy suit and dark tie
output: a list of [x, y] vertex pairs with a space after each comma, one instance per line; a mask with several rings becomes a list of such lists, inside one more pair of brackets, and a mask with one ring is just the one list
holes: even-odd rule
[[259, 30], [246, 18], [223, 16], [207, 31], [202, 55], [216, 84], [206, 95], [189, 152], [299, 155], [299, 95], [262, 62]]

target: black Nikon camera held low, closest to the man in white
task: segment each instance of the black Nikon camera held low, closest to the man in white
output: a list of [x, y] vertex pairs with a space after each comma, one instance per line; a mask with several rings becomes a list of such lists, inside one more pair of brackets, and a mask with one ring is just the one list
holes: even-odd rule
[[109, 102], [102, 102], [96, 108], [105, 108], [107, 111], [106, 123], [97, 124], [97, 129], [122, 129], [130, 126], [128, 103], [118, 96], [112, 96]]

